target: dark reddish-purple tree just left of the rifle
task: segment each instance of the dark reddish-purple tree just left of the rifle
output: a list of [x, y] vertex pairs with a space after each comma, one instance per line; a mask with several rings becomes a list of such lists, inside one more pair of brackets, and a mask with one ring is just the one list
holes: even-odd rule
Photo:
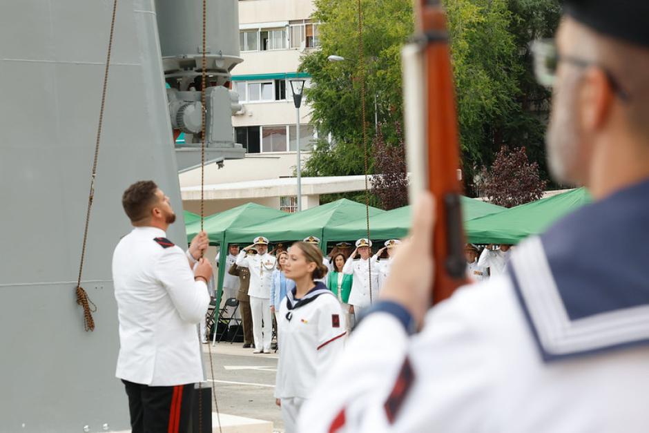
[[382, 209], [389, 211], [408, 204], [408, 177], [405, 162], [405, 146], [401, 126], [396, 124], [398, 142], [388, 144], [382, 134], [382, 128], [374, 137], [374, 171], [372, 192], [380, 200]]

